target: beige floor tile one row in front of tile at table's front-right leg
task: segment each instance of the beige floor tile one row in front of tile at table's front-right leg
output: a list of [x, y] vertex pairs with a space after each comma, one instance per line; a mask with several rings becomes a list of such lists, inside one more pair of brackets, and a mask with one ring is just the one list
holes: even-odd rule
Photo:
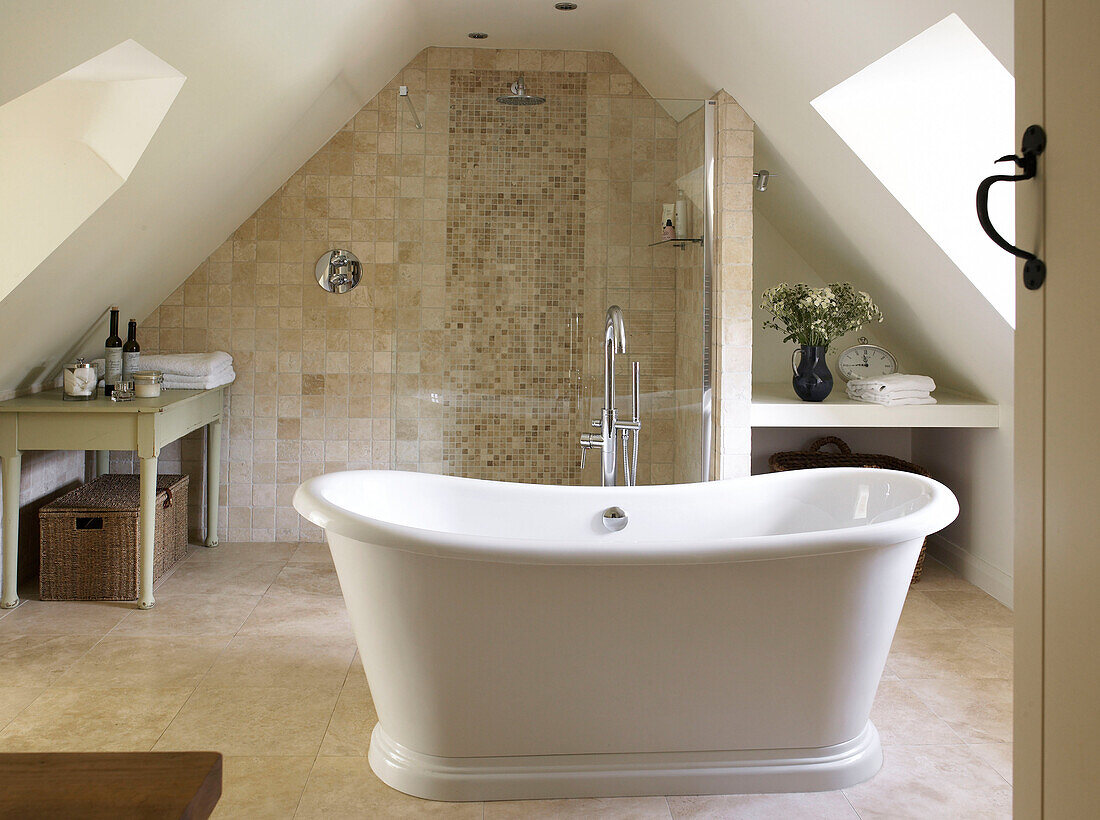
[[56, 685], [77, 689], [138, 686], [194, 689], [228, 641], [224, 635], [136, 637], [110, 634], [69, 667]]

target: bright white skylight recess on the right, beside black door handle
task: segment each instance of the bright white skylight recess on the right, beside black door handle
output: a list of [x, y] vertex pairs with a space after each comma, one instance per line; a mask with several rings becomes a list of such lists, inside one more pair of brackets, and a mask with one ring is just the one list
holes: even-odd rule
[[[975, 190], [1015, 145], [1015, 81], [950, 14], [811, 103], [958, 269], [1015, 327], [1015, 262], [981, 230]], [[989, 197], [1015, 234], [1011, 185]]]

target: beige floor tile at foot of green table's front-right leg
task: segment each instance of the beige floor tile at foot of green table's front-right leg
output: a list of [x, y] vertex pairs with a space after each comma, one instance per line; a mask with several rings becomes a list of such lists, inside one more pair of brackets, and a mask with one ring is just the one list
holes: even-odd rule
[[256, 595], [197, 595], [166, 592], [151, 610], [134, 610], [116, 635], [234, 635], [260, 603]]

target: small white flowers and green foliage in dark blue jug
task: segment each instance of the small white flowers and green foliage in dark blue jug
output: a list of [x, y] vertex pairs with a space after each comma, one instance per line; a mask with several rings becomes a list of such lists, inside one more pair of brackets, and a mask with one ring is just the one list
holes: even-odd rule
[[783, 341], [827, 348], [836, 339], [869, 321], [882, 321], [870, 295], [848, 282], [811, 287], [785, 282], [766, 291], [760, 306], [771, 314], [766, 328], [784, 334]]

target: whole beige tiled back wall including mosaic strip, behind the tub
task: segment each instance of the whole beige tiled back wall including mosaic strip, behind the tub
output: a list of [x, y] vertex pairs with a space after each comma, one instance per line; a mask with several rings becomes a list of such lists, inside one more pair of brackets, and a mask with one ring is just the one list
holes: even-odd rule
[[[530, 91], [550, 98], [541, 111], [462, 108], [479, 84], [481, 94], [499, 83], [496, 96], [520, 70]], [[398, 85], [409, 87], [422, 130]], [[549, 118], [552, 106], [569, 109], [549, 119], [560, 131], [540, 143], [541, 157], [515, 157], [513, 176], [490, 176], [453, 131], [507, 130], [517, 121], [507, 117]], [[319, 539], [290, 500], [301, 480], [332, 470], [578, 480], [576, 437], [601, 397], [604, 311], [615, 302], [627, 317], [624, 359], [642, 362], [639, 480], [673, 480], [680, 251], [648, 244], [660, 204], [675, 197], [676, 173], [675, 122], [609, 54], [418, 55], [142, 322], [145, 350], [233, 354], [220, 536]], [[562, 187], [542, 199], [543, 183]], [[494, 201], [535, 192], [535, 217], [492, 215]], [[505, 241], [539, 214], [565, 222], [539, 227], [539, 242]], [[495, 221], [479, 226], [481, 218]], [[463, 244], [479, 232], [492, 241]], [[552, 252], [546, 241], [557, 243]], [[338, 245], [364, 265], [363, 283], [339, 297], [314, 278], [316, 260]], [[513, 250], [522, 252], [508, 256]], [[469, 265], [453, 259], [460, 252], [473, 254]], [[515, 372], [484, 357], [494, 345]], [[624, 361], [624, 413], [628, 373]], [[502, 401], [494, 391], [505, 382], [515, 393]], [[471, 404], [483, 383], [484, 401]], [[200, 453], [191, 437], [162, 455], [162, 471], [191, 473], [195, 505]], [[595, 466], [585, 473], [591, 482]]]

